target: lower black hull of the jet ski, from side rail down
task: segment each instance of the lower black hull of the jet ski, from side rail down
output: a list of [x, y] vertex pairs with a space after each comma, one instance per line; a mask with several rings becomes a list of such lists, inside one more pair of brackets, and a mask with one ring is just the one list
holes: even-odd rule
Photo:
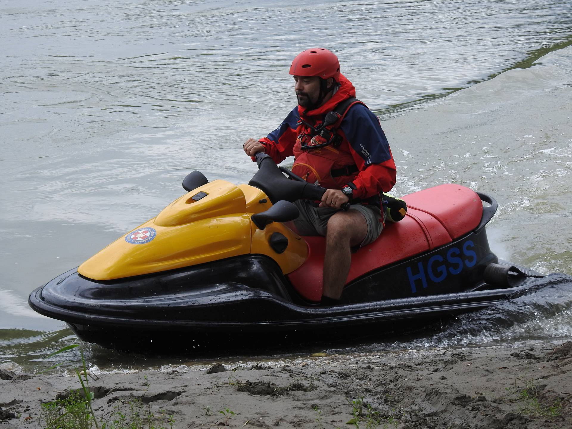
[[[522, 267], [521, 267], [522, 268]], [[528, 273], [533, 273], [527, 271]], [[197, 321], [157, 320], [116, 316], [85, 315], [66, 311], [62, 317], [58, 309], [37, 311], [55, 319], [65, 320], [76, 335], [89, 343], [122, 351], [172, 353], [204, 351], [205, 349], [237, 348], [240, 344], [262, 344], [260, 348], [280, 345], [312, 344], [317, 340], [344, 340], [387, 333], [423, 329], [435, 320], [490, 307], [511, 297], [520, 296], [546, 285], [570, 281], [570, 276], [551, 275], [543, 279], [525, 278], [514, 287], [484, 289], [447, 295], [433, 295], [418, 299], [379, 301], [363, 305], [339, 307], [301, 307], [279, 301], [279, 305], [296, 312], [298, 319], [257, 321]], [[41, 295], [41, 288], [30, 295], [33, 305]], [[218, 311], [215, 311], [218, 313]], [[64, 318], [65, 317], [65, 318]]]

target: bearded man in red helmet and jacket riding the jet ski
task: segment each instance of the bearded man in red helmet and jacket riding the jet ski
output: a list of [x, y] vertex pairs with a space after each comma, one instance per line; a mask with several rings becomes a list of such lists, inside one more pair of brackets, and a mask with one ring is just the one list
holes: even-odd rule
[[[243, 148], [251, 157], [265, 152], [276, 164], [293, 155], [292, 172], [327, 189], [319, 204], [295, 202], [300, 217], [294, 225], [300, 235], [326, 237], [321, 303], [335, 305], [348, 276], [351, 249], [372, 243], [382, 232], [380, 192], [395, 184], [395, 162], [378, 118], [353, 98], [355, 88], [340, 73], [335, 54], [305, 50], [289, 73], [298, 105], [267, 137], [249, 138]], [[330, 112], [336, 113], [325, 120]], [[349, 210], [340, 210], [348, 201]]]

